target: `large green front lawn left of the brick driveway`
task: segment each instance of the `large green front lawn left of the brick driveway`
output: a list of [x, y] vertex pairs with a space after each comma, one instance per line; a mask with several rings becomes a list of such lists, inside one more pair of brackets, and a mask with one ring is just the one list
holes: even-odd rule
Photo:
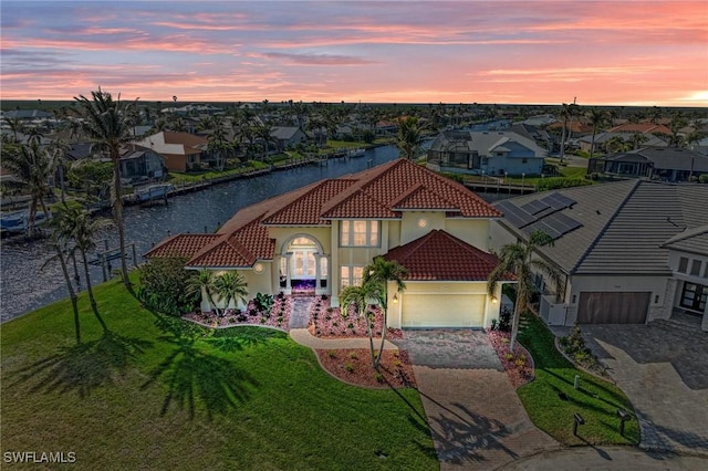
[[73, 451], [82, 469], [439, 468], [416, 390], [347, 386], [277, 331], [158, 322], [116, 281], [96, 293], [110, 332], [82, 293], [81, 346], [67, 301], [2, 324], [3, 452]]

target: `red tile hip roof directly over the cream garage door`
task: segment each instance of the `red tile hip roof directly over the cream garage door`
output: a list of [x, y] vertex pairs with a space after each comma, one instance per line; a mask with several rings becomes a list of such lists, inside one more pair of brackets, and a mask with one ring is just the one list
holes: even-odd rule
[[[396, 247], [384, 255], [408, 269], [412, 281], [486, 281], [499, 263], [497, 257], [441, 230]], [[503, 280], [513, 280], [508, 273]]]

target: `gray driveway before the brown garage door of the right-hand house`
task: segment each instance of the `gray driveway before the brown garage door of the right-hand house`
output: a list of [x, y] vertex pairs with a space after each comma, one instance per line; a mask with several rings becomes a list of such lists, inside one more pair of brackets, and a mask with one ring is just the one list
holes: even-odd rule
[[708, 334], [663, 325], [583, 325], [635, 407], [647, 450], [708, 457]]

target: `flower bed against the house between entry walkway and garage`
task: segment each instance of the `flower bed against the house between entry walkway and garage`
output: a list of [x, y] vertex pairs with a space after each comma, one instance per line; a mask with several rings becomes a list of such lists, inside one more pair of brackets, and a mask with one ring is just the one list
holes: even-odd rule
[[[384, 327], [384, 313], [379, 307], [369, 307], [374, 313], [374, 337], [381, 337]], [[350, 306], [345, 315], [341, 307], [330, 306], [329, 297], [317, 297], [310, 306], [310, 333], [320, 338], [367, 337], [366, 320], [356, 315], [353, 306]], [[399, 328], [388, 328], [386, 338], [403, 338]]]

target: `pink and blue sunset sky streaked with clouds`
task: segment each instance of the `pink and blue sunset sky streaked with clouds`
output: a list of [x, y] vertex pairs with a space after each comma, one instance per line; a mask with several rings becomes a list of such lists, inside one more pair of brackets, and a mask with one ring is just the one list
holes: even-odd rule
[[0, 2], [0, 100], [708, 106], [708, 0]]

